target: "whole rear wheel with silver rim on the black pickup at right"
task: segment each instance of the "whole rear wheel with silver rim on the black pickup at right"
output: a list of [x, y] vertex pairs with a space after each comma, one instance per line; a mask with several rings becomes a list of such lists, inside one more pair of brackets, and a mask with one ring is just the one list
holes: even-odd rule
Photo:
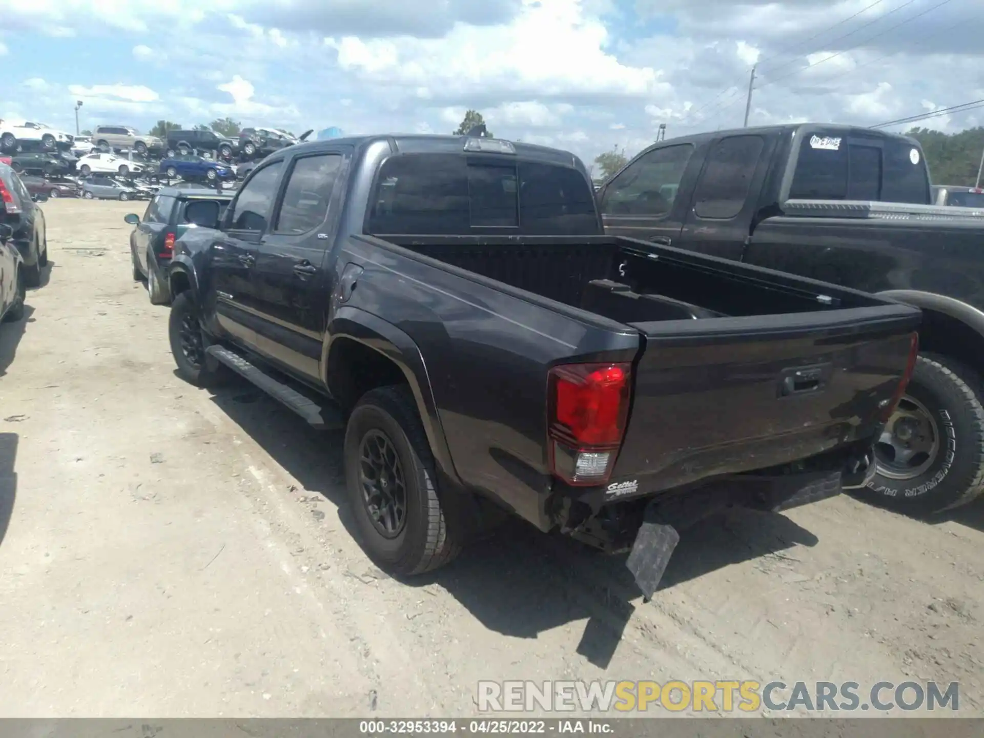
[[875, 447], [878, 474], [859, 494], [898, 513], [926, 516], [984, 491], [980, 376], [949, 356], [921, 354]]

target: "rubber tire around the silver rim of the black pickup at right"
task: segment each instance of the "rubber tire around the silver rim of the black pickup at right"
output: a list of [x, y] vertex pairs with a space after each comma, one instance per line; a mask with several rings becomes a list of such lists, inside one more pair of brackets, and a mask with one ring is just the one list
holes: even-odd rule
[[984, 491], [984, 406], [980, 375], [949, 356], [920, 354], [905, 394], [934, 413], [937, 459], [913, 479], [876, 474], [856, 491], [862, 499], [911, 516], [951, 510]]

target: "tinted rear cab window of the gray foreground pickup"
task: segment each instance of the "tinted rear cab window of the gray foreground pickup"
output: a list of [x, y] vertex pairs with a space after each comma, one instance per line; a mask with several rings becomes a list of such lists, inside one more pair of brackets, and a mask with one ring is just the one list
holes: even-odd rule
[[366, 232], [599, 234], [587, 178], [561, 164], [495, 155], [398, 154], [380, 168]]

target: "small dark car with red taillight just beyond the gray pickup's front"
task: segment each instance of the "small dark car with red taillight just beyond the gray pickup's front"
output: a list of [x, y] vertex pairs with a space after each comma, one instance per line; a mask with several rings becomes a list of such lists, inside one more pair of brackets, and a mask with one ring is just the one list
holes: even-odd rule
[[175, 241], [189, 228], [214, 226], [231, 200], [231, 195], [205, 188], [162, 187], [143, 217], [131, 213], [123, 218], [135, 226], [130, 233], [133, 278], [147, 278], [147, 291], [154, 305], [170, 302], [167, 267], [174, 255]]

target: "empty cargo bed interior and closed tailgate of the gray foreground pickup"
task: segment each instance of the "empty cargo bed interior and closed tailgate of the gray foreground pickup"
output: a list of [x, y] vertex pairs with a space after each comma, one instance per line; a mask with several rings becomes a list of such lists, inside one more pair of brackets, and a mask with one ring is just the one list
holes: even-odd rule
[[639, 494], [870, 444], [920, 322], [863, 292], [629, 238], [387, 240], [639, 332], [612, 476]]

